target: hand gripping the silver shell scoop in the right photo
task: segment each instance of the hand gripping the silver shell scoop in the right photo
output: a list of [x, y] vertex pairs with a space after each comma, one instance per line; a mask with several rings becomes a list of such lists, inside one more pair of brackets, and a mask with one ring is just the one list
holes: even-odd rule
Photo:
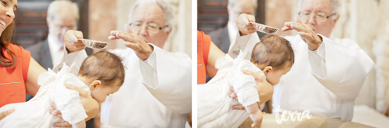
[[237, 25], [239, 29], [240, 36], [249, 35], [257, 30], [249, 22], [255, 22], [255, 17], [249, 14], [240, 14], [238, 17]]

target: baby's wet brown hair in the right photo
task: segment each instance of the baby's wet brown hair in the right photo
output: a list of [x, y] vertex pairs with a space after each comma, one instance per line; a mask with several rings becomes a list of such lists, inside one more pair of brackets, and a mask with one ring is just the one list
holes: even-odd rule
[[255, 44], [252, 49], [251, 63], [254, 63], [261, 70], [267, 66], [274, 70], [284, 67], [287, 60], [294, 63], [294, 51], [291, 43], [274, 34], [262, 37], [261, 41]]

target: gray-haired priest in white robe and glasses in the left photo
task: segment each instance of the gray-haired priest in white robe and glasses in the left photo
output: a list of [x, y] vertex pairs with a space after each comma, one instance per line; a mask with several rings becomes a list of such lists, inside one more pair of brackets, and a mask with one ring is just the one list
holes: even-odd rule
[[[186, 54], [162, 50], [172, 30], [173, 9], [161, 0], [139, 0], [130, 9], [126, 32], [111, 31], [111, 40], [123, 39], [126, 49], [114, 49], [125, 58], [124, 84], [101, 107], [101, 126], [183, 128], [192, 109], [191, 61]], [[86, 58], [82, 32], [65, 35], [63, 62]], [[189, 58], [186, 60], [184, 58]], [[71, 64], [71, 63], [67, 63]], [[60, 66], [59, 66], [60, 67]], [[65, 123], [58, 123], [63, 126]]]

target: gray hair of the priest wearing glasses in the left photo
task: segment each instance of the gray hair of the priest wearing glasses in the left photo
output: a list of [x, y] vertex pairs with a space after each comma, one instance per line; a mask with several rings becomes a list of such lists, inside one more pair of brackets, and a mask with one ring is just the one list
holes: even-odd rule
[[[159, 7], [162, 8], [163, 18], [165, 19], [164, 26], [166, 26], [166, 25], [168, 26], [168, 27], [165, 27], [164, 31], [167, 32], [167, 31], [171, 30], [171, 28], [173, 27], [173, 24], [174, 24], [173, 7], [172, 7], [172, 5], [166, 3], [165, 1], [162, 1], [162, 0], [138, 0], [137, 2], [135, 2], [135, 4], [133, 4], [132, 7], [130, 8], [130, 13], [128, 14], [128, 22], [129, 23], [132, 22], [132, 16], [134, 15], [135, 9], [138, 7], [138, 5], [141, 5], [141, 4], [159, 5]], [[159, 27], [163, 28], [163, 26], [159, 26]]]

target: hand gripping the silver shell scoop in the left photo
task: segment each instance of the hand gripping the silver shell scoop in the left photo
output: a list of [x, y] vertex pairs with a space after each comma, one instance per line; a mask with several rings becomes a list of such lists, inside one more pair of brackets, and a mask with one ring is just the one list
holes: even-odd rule
[[84, 38], [84, 36], [82, 35], [81, 31], [68, 30], [65, 33], [65, 37], [63, 39], [67, 48], [67, 52], [73, 53], [85, 49], [86, 46], [82, 43], [82, 41], [78, 40], [82, 38]]

